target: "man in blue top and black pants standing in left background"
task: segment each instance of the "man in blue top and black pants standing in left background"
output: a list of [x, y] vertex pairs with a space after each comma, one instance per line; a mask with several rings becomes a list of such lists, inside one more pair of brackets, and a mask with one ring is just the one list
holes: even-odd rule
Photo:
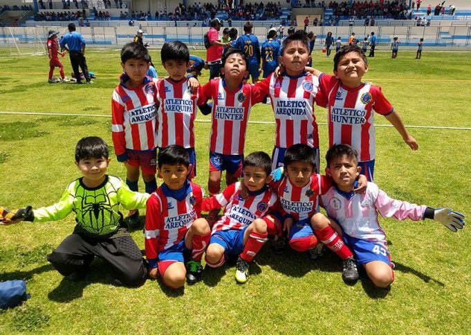
[[[86, 79], [86, 84], [91, 84], [89, 68], [86, 66], [85, 59], [85, 39], [82, 37], [80, 32], [75, 31], [75, 24], [69, 23], [68, 33], [61, 39], [60, 46], [68, 51], [68, 54], [71, 57], [71, 64], [75, 79], [77, 79], [77, 84], [82, 84], [82, 79], [80, 78], [79, 66], [84, 73]], [[66, 46], [67, 45], [67, 46]]]

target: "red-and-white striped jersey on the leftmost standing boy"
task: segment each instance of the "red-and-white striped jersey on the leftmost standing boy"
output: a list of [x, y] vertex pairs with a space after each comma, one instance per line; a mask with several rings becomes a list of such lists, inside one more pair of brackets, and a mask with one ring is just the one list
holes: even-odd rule
[[121, 83], [113, 90], [111, 99], [111, 130], [117, 156], [126, 149], [149, 150], [157, 146], [157, 85], [156, 80], [145, 77], [138, 88], [127, 88]]

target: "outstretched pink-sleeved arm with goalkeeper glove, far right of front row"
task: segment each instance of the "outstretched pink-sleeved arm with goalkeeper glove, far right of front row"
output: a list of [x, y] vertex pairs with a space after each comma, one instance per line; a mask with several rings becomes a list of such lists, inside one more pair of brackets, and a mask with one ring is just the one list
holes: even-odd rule
[[380, 189], [378, 189], [378, 195], [376, 196], [374, 204], [381, 216], [385, 218], [395, 218], [396, 220], [409, 218], [414, 221], [432, 219], [455, 232], [458, 229], [462, 229], [465, 225], [465, 216], [461, 213], [452, 211], [451, 209], [434, 209], [424, 205], [420, 206], [418, 204], [391, 199]]

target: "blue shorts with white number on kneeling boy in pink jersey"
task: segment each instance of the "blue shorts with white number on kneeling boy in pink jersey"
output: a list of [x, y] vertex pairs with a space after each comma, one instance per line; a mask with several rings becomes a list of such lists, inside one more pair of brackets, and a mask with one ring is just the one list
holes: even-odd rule
[[381, 262], [385, 262], [391, 268], [394, 268], [387, 246], [379, 242], [353, 238], [348, 236], [346, 233], [343, 233], [343, 236], [345, 244], [350, 247], [353, 253], [355, 253], [355, 258], [359, 265], [373, 262], [373, 260], [380, 260]]

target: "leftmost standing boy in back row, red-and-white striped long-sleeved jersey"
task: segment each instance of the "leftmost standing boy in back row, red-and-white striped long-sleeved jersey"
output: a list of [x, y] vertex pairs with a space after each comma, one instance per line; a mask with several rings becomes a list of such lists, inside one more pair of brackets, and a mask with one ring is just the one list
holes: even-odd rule
[[[151, 58], [147, 48], [135, 42], [121, 49], [124, 70], [111, 99], [111, 130], [118, 162], [126, 166], [126, 184], [138, 191], [142, 171], [146, 193], [157, 189], [157, 79], [147, 77]], [[140, 171], [139, 171], [140, 168]], [[139, 212], [129, 213], [129, 225], [140, 224]]]

